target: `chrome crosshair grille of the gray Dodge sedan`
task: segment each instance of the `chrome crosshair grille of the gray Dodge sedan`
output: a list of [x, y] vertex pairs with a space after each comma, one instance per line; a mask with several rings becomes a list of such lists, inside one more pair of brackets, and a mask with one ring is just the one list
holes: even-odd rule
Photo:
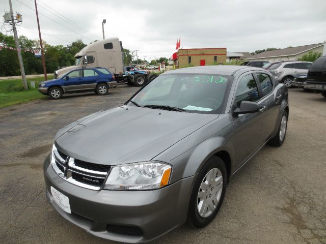
[[51, 159], [53, 169], [59, 176], [70, 183], [88, 188], [100, 190], [104, 184], [110, 165], [94, 164], [74, 159], [55, 149]]

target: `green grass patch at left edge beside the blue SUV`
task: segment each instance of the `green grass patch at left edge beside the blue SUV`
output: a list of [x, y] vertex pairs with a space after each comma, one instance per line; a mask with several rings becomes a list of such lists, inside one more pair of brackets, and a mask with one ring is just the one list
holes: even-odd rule
[[[52, 78], [53, 76], [48, 76], [48, 79]], [[35, 89], [31, 87], [30, 81], [35, 81]], [[24, 90], [21, 79], [0, 80], [0, 108], [44, 98], [45, 96], [37, 91], [42, 81], [44, 77], [28, 78], [29, 90]]]

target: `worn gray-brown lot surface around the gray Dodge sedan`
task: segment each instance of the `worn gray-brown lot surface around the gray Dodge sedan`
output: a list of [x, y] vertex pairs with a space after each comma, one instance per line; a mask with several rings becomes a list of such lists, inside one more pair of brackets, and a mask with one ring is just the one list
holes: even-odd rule
[[[126, 101], [138, 88], [47, 98], [0, 109], [2, 243], [114, 243], [62, 218], [44, 194], [43, 160], [63, 126]], [[282, 147], [265, 146], [231, 179], [217, 218], [153, 243], [326, 243], [326, 99], [289, 91]]]

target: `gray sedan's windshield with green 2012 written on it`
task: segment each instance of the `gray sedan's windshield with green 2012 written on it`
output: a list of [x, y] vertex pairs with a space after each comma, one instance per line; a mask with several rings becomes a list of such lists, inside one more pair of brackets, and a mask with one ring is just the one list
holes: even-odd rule
[[174, 107], [191, 113], [219, 114], [223, 111], [232, 81], [233, 76], [217, 74], [160, 75], [131, 101], [141, 107]]

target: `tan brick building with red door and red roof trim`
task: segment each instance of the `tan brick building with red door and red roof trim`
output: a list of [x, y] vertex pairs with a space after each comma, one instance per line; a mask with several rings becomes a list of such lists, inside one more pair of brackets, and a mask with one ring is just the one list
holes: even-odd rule
[[226, 48], [179, 49], [170, 58], [177, 68], [226, 63]]

